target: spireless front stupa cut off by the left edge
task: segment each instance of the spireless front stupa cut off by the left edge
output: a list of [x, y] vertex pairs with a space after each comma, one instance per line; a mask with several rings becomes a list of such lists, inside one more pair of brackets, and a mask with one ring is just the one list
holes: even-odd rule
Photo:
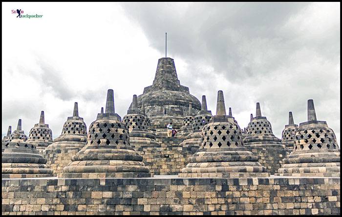
[[2, 179], [52, 177], [52, 170], [36, 146], [27, 144], [20, 136], [21, 133], [16, 131], [11, 142], [2, 142]]

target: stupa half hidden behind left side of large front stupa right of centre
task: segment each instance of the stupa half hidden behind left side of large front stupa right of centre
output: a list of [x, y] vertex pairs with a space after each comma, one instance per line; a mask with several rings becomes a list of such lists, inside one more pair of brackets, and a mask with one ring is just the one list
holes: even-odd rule
[[202, 139], [202, 128], [210, 122], [212, 119], [212, 111], [207, 109], [207, 100], [205, 95], [202, 96], [201, 110], [193, 118], [192, 121], [192, 132], [185, 137], [185, 140], [180, 144], [183, 147], [201, 145]]

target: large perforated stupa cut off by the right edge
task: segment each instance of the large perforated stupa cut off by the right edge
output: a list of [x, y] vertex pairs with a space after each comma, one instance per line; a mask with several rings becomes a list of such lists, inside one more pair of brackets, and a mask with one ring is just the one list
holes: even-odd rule
[[283, 160], [278, 176], [340, 177], [340, 148], [334, 131], [317, 121], [314, 101], [308, 100], [308, 121], [299, 124], [295, 145]]

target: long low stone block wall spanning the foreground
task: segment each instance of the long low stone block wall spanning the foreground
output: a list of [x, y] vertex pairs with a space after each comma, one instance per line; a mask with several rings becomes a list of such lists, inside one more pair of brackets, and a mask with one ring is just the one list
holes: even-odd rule
[[2, 180], [2, 215], [339, 215], [340, 178]]

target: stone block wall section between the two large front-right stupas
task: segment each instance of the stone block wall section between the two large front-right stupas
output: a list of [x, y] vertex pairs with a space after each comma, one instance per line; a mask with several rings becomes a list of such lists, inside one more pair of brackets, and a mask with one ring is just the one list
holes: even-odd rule
[[266, 167], [266, 172], [269, 172], [272, 175], [278, 173], [278, 169], [281, 167], [281, 161], [290, 154], [289, 150], [286, 148], [247, 148], [258, 156], [258, 162]]

